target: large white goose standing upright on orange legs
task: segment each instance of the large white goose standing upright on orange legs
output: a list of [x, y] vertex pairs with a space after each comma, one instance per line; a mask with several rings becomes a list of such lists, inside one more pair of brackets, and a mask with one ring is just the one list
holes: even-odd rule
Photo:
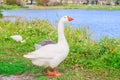
[[[69, 46], [64, 35], [64, 24], [72, 20], [73, 18], [69, 16], [60, 19], [58, 23], [58, 43], [44, 45], [24, 55], [24, 57], [29, 58], [34, 65], [46, 67], [49, 76], [61, 76], [60, 73], [56, 73], [56, 67], [67, 57], [69, 52]], [[49, 71], [49, 67], [54, 68], [53, 72]]]

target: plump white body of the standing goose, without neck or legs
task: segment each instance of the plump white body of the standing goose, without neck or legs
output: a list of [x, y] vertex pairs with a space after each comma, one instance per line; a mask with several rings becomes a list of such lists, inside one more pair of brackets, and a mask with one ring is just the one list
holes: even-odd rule
[[24, 57], [30, 58], [34, 65], [54, 68], [66, 58], [68, 52], [69, 48], [66, 45], [49, 44]]

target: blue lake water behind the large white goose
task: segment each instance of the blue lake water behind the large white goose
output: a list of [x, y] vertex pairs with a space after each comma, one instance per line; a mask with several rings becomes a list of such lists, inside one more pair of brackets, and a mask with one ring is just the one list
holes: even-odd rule
[[22, 16], [28, 20], [39, 18], [49, 20], [56, 26], [59, 18], [69, 15], [74, 18], [70, 22], [73, 28], [78, 26], [89, 26], [94, 37], [101, 38], [109, 36], [111, 38], [120, 37], [120, 11], [105, 10], [12, 10], [4, 11], [4, 16]]

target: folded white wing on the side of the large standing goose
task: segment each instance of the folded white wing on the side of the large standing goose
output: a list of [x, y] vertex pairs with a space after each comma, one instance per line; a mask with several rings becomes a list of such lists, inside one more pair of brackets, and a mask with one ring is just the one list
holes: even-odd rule
[[35, 59], [35, 58], [54, 58], [60, 56], [64, 53], [64, 50], [58, 45], [47, 45], [35, 50], [27, 55], [24, 55], [25, 58]]

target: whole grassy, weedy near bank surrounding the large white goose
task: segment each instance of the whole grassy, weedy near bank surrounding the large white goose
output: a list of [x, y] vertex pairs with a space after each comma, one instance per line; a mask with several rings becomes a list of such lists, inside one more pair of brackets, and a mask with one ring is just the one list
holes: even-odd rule
[[[23, 36], [26, 43], [17, 43], [11, 35]], [[44, 67], [37, 67], [23, 58], [34, 51], [34, 44], [44, 40], [57, 42], [57, 30], [47, 21], [0, 21], [0, 74], [30, 75], [50, 80], [119, 80], [120, 39], [103, 38], [93, 41], [87, 28], [65, 28], [70, 47], [68, 57], [58, 66], [62, 77], [47, 77]], [[74, 35], [74, 36], [73, 36]]]

